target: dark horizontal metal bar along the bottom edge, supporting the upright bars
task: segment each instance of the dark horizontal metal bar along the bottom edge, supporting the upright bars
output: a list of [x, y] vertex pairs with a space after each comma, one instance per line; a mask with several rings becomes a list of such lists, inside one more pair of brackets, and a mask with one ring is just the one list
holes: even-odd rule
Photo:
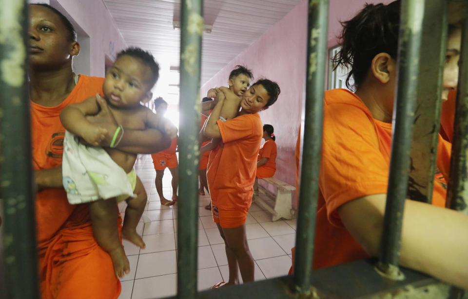
[[[315, 286], [309, 296], [291, 292], [292, 276], [205, 290], [198, 299], [291, 299], [291, 298], [448, 298], [449, 285], [420, 272], [402, 268], [405, 281], [393, 281], [374, 271], [375, 261], [355, 261], [312, 272]], [[419, 297], [418, 297], [419, 296]], [[174, 298], [174, 297], [172, 297]], [[463, 298], [463, 297], [462, 297]]]

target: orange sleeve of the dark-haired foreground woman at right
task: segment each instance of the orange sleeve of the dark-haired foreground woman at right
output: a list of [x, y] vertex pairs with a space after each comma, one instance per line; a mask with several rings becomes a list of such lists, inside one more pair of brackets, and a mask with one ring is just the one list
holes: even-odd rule
[[352, 105], [325, 106], [319, 180], [329, 220], [341, 225], [334, 213], [338, 207], [358, 197], [387, 193], [388, 172], [369, 116]]

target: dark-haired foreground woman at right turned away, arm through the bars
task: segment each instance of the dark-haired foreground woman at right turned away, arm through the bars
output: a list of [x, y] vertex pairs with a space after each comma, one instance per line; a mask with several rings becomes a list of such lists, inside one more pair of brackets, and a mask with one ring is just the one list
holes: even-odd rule
[[[367, 4], [343, 23], [334, 62], [355, 93], [325, 92], [315, 268], [378, 257], [387, 197], [400, 1]], [[461, 31], [449, 30], [442, 99], [456, 88]], [[421, 61], [421, 63], [431, 63]], [[351, 88], [351, 87], [350, 87]], [[407, 199], [400, 264], [468, 288], [468, 216], [445, 209], [451, 146], [439, 136], [432, 205]], [[449, 254], [447, 254], [449, 252]]]

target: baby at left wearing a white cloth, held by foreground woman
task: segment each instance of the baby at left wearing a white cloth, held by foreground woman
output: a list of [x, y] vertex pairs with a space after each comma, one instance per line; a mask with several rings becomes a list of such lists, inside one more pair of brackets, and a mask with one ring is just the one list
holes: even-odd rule
[[151, 88], [158, 77], [159, 65], [150, 53], [129, 48], [117, 54], [102, 88], [104, 99], [119, 124], [117, 130], [111, 132], [110, 148], [97, 147], [108, 132], [87, 120], [87, 117], [98, 114], [98, 98], [67, 106], [60, 114], [67, 130], [62, 176], [68, 200], [71, 204], [89, 203], [94, 236], [99, 246], [111, 256], [117, 277], [130, 272], [130, 264], [118, 236], [116, 201], [126, 200], [128, 204], [122, 237], [144, 248], [136, 228], [146, 205], [146, 196], [134, 195], [136, 187], [144, 194], [133, 168], [137, 154], [126, 153], [116, 146], [124, 129], [155, 128], [170, 138], [177, 134], [169, 120], [140, 104], [151, 100]]

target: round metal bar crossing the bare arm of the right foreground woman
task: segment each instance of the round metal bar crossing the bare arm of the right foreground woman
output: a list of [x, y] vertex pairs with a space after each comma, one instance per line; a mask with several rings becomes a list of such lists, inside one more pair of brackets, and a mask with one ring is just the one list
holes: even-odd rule
[[392, 147], [382, 254], [378, 269], [387, 277], [401, 279], [398, 270], [403, 209], [407, 197], [411, 128], [419, 77], [424, 0], [401, 3], [398, 43], [398, 86], [393, 109]]

